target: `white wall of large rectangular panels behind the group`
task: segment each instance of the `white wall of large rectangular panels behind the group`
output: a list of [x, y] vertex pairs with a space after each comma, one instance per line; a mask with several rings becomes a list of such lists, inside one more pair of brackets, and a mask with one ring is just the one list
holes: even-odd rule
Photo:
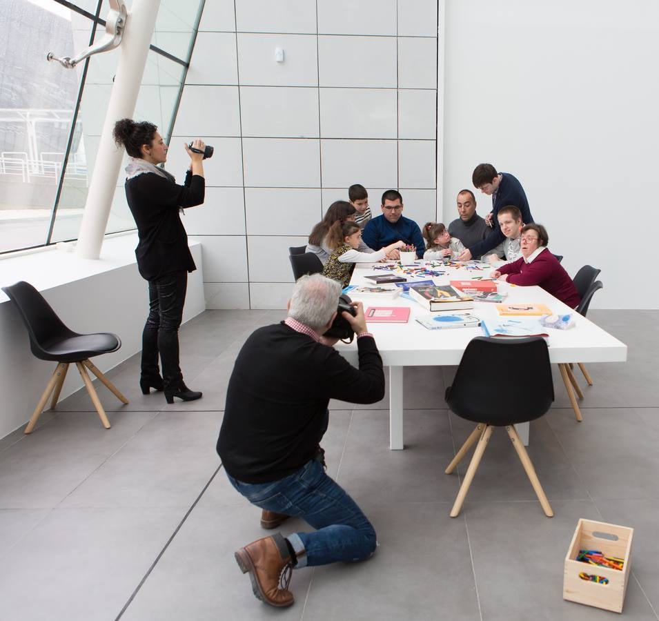
[[185, 141], [215, 146], [184, 215], [207, 308], [285, 308], [288, 246], [351, 184], [374, 215], [400, 188], [406, 217], [435, 219], [436, 67], [436, 0], [206, 2], [167, 168], [182, 178]]

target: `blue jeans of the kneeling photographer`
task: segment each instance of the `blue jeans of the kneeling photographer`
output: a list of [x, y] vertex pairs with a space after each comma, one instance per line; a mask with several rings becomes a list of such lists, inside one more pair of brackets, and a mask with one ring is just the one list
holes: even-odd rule
[[[230, 483], [252, 504], [295, 515], [316, 529], [286, 539], [297, 555], [297, 566], [360, 561], [373, 555], [375, 530], [357, 503], [311, 460], [297, 472], [271, 483], [242, 483], [227, 473]], [[303, 552], [304, 551], [304, 552]]]

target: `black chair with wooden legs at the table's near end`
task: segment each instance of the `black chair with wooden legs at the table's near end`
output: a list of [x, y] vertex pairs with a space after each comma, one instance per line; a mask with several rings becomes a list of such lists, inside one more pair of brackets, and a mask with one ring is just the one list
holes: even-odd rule
[[[491, 372], [491, 361], [499, 368], [515, 369], [509, 390]], [[495, 339], [476, 337], [464, 350], [453, 385], [446, 388], [446, 403], [456, 415], [477, 423], [462, 448], [446, 468], [451, 474], [467, 451], [478, 442], [469, 468], [455, 499], [451, 517], [458, 517], [469, 486], [478, 469], [494, 427], [505, 427], [547, 517], [553, 515], [538, 475], [514, 425], [535, 420], [547, 413], [553, 402], [553, 382], [547, 342], [542, 337]]]

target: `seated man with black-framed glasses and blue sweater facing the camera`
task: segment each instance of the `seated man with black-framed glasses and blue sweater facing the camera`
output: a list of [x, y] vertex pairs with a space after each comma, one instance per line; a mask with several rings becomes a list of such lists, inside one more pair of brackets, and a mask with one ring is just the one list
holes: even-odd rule
[[[382, 215], [373, 218], [362, 233], [368, 248], [383, 248], [394, 242], [415, 246], [417, 257], [423, 257], [426, 245], [419, 225], [403, 215], [403, 197], [398, 190], [386, 190], [382, 195]], [[400, 259], [398, 250], [391, 250], [387, 259]]]

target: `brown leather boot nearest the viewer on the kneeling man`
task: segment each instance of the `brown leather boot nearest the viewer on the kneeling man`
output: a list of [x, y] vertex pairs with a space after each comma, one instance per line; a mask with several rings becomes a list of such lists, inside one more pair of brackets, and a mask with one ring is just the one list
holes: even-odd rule
[[[295, 601], [288, 591], [293, 559], [280, 533], [258, 539], [235, 553], [242, 573], [248, 573], [255, 597], [271, 606], [290, 606]], [[281, 582], [281, 587], [280, 586]]]

